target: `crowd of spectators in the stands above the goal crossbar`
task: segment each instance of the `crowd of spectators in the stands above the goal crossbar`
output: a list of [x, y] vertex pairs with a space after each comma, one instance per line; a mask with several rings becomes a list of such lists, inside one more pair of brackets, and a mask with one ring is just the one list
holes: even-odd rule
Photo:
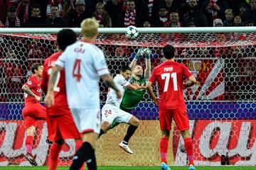
[[0, 27], [255, 26], [256, 0], [0, 0]]

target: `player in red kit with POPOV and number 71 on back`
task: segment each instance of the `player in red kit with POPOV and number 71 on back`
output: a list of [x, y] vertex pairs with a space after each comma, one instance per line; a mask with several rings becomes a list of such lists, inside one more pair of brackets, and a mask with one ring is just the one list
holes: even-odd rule
[[[185, 142], [189, 170], [195, 170], [196, 168], [193, 165], [193, 143], [189, 134], [188, 113], [183, 98], [183, 88], [195, 84], [196, 78], [185, 65], [175, 62], [176, 51], [173, 46], [164, 46], [163, 52], [166, 61], [154, 68], [147, 84], [147, 89], [152, 96], [154, 96], [154, 93], [151, 84], [154, 84], [155, 81], [159, 84], [159, 100], [156, 96], [153, 100], [156, 104], [159, 104], [159, 122], [162, 132], [160, 140], [161, 169], [170, 169], [167, 166], [167, 150], [171, 120], [174, 118]], [[183, 83], [183, 77], [188, 79], [186, 83]]]

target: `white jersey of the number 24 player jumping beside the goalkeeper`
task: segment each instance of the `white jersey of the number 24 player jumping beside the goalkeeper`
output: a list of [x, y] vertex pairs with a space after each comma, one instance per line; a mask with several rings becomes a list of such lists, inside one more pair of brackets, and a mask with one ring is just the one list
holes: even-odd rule
[[[119, 91], [121, 91], [122, 95], [124, 95], [124, 87], [128, 86], [130, 83], [121, 74], [117, 74], [117, 76], [114, 77], [114, 84], [117, 85]], [[122, 98], [117, 98], [116, 92], [113, 89], [110, 89], [109, 93], [107, 94], [106, 104], [111, 104], [119, 108], [121, 102]]]

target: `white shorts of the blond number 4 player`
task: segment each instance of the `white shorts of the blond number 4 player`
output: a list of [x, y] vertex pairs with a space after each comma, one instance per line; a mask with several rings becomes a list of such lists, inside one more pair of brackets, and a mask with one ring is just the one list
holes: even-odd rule
[[80, 133], [100, 133], [100, 108], [70, 108]]

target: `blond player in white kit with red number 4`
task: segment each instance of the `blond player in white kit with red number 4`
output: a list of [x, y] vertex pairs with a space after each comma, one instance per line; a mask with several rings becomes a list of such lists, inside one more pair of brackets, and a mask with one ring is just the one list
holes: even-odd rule
[[75, 153], [70, 169], [80, 169], [84, 162], [88, 169], [97, 169], [95, 147], [100, 133], [100, 77], [112, 89], [117, 98], [122, 98], [122, 92], [115, 86], [107, 69], [103, 52], [93, 45], [97, 37], [99, 23], [94, 18], [87, 18], [81, 23], [83, 39], [66, 48], [56, 61], [50, 74], [46, 105], [54, 105], [53, 89], [58, 88], [55, 82], [58, 72], [65, 69], [65, 86], [68, 106], [83, 144]]

